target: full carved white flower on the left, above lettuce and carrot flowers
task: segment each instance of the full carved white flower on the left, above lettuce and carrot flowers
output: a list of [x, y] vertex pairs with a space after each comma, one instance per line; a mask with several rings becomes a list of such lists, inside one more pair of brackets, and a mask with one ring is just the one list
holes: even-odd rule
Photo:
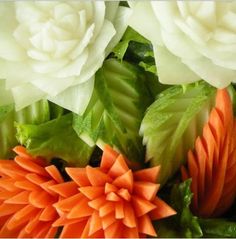
[[130, 11], [118, 1], [1, 1], [0, 78], [16, 108], [47, 98], [83, 113]]

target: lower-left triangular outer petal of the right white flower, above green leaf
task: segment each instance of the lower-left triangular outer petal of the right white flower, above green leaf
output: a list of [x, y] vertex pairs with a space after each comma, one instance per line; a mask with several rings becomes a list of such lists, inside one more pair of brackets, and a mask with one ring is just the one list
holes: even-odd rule
[[181, 59], [171, 54], [166, 48], [154, 45], [154, 54], [159, 81], [164, 84], [187, 84], [200, 80], [189, 70]]

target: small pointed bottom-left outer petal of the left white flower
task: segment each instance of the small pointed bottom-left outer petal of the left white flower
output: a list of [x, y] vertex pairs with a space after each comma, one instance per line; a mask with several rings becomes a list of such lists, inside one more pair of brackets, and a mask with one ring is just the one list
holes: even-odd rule
[[12, 95], [15, 101], [15, 109], [17, 111], [46, 97], [45, 92], [39, 90], [30, 83], [12, 88]]

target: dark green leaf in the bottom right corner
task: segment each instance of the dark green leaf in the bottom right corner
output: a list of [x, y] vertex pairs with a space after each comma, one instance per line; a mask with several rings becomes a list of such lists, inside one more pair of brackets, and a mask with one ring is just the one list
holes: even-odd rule
[[199, 219], [203, 236], [214, 238], [236, 237], [236, 222], [226, 219]]

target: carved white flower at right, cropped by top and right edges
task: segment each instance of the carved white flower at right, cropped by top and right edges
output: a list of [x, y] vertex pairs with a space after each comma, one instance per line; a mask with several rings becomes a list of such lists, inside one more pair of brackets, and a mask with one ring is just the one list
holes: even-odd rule
[[130, 5], [130, 25], [153, 43], [161, 82], [183, 84], [202, 78], [223, 88], [236, 81], [235, 1]]

